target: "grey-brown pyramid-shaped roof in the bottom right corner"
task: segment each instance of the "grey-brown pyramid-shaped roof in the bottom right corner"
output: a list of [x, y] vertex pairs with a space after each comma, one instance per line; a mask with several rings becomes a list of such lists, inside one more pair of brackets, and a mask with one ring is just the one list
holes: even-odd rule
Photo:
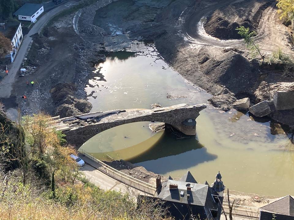
[[266, 206], [263, 206], [260, 209], [262, 211], [273, 212], [281, 215], [294, 216], [294, 198], [288, 195]]

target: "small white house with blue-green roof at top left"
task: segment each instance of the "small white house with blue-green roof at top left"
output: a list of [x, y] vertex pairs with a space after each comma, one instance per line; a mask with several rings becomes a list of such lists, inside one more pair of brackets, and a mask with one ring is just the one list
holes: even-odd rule
[[25, 3], [13, 15], [18, 16], [18, 20], [28, 20], [36, 22], [37, 17], [44, 12], [42, 4]]

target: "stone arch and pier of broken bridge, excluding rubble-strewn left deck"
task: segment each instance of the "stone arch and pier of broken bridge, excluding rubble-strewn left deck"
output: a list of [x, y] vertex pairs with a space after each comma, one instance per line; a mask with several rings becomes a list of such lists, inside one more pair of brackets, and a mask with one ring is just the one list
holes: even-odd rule
[[[123, 124], [134, 122], [162, 122], [171, 125], [177, 130], [187, 135], [196, 134], [196, 121], [199, 112], [206, 108], [206, 105], [185, 106], [183, 108], [167, 109], [156, 112], [150, 109], [128, 109], [121, 115], [113, 114], [105, 116], [97, 123], [87, 124], [70, 130], [63, 131], [66, 134], [66, 140], [69, 144], [76, 146], [78, 149], [90, 138], [105, 130], [117, 127]], [[141, 111], [143, 114], [132, 114]], [[126, 115], [127, 117], [123, 117]]]

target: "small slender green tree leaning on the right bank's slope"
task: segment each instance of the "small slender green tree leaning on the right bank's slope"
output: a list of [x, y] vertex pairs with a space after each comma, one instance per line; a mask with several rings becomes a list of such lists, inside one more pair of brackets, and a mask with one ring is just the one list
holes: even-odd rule
[[255, 31], [250, 32], [249, 28], [245, 28], [244, 26], [240, 26], [239, 28], [236, 28], [238, 31], [238, 34], [241, 35], [247, 45], [247, 48], [251, 51], [251, 54], [253, 57], [256, 57], [257, 54], [259, 54], [262, 58], [262, 63], [264, 62], [264, 56], [261, 54], [259, 50], [258, 44], [254, 43], [254, 40], [252, 39], [253, 36], [256, 35]]

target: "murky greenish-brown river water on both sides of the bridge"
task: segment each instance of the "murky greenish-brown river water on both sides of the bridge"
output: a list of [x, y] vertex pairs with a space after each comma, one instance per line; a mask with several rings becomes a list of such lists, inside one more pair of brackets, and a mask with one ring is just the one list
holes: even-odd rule
[[[92, 112], [207, 103], [210, 94], [183, 79], [153, 48], [147, 54], [113, 53], [97, 66], [107, 81], [94, 78], [85, 88], [87, 94], [94, 91]], [[107, 154], [165, 176], [181, 177], [190, 170], [200, 183], [212, 183], [220, 171], [229, 189], [245, 193], [293, 194], [294, 145], [287, 127], [211, 105], [196, 121], [196, 137], [152, 133], [150, 122], [140, 122], [106, 130], [81, 149], [100, 160], [108, 160]]]

